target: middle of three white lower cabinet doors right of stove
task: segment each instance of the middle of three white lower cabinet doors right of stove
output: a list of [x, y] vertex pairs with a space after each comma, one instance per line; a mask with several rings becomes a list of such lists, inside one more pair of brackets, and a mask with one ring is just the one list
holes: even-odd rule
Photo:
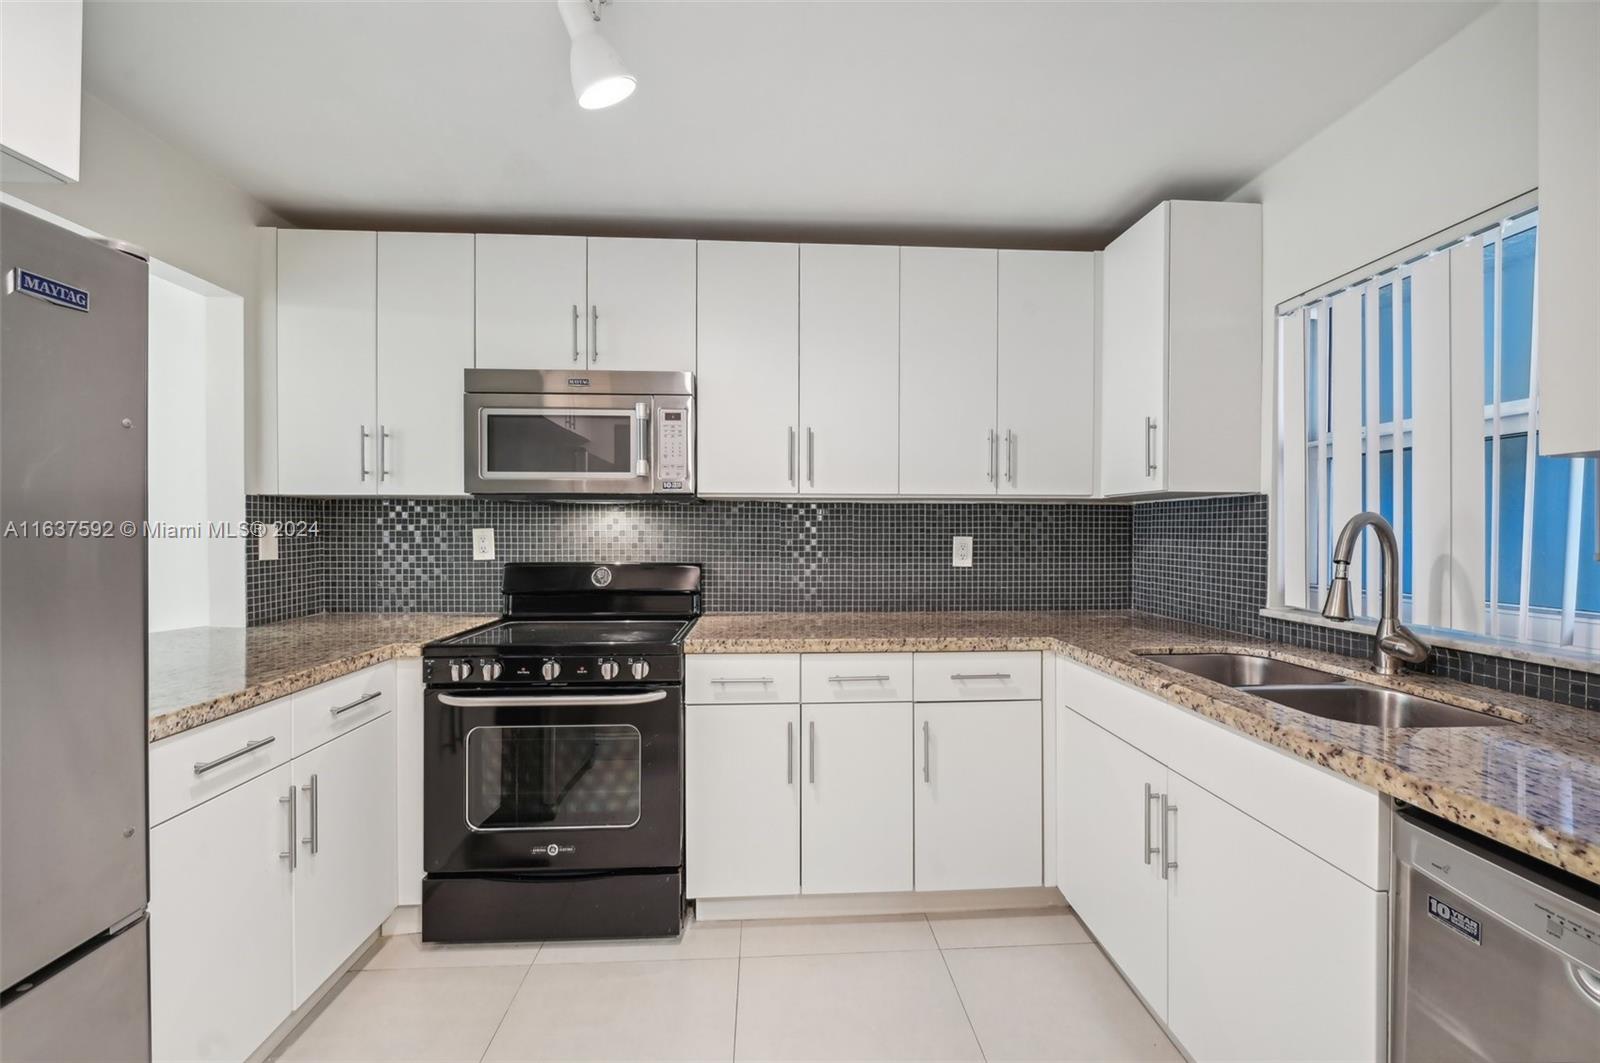
[[800, 892], [912, 889], [909, 701], [806, 704], [800, 772]]

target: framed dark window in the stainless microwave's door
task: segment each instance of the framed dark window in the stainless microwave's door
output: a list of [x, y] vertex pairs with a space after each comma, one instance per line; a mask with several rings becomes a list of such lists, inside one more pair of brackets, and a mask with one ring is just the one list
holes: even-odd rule
[[632, 475], [632, 410], [488, 410], [490, 475]]

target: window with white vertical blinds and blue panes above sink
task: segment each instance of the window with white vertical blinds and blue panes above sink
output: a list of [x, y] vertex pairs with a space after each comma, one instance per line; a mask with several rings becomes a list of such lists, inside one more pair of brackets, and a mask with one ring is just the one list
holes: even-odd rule
[[[1539, 216], [1525, 210], [1278, 317], [1278, 560], [1318, 608], [1344, 522], [1400, 540], [1408, 623], [1600, 648], [1595, 459], [1538, 455]], [[1378, 552], [1352, 559], [1378, 615]]]

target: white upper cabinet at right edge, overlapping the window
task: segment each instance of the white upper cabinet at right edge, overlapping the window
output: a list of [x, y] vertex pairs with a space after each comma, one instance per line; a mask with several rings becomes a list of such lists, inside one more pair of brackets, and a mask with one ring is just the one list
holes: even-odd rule
[[1539, 5], [1539, 453], [1600, 453], [1600, 5]]

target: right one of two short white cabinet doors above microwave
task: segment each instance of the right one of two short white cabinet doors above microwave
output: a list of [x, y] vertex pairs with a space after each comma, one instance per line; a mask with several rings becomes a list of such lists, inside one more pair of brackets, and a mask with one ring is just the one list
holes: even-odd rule
[[589, 368], [694, 371], [694, 240], [589, 240]]

